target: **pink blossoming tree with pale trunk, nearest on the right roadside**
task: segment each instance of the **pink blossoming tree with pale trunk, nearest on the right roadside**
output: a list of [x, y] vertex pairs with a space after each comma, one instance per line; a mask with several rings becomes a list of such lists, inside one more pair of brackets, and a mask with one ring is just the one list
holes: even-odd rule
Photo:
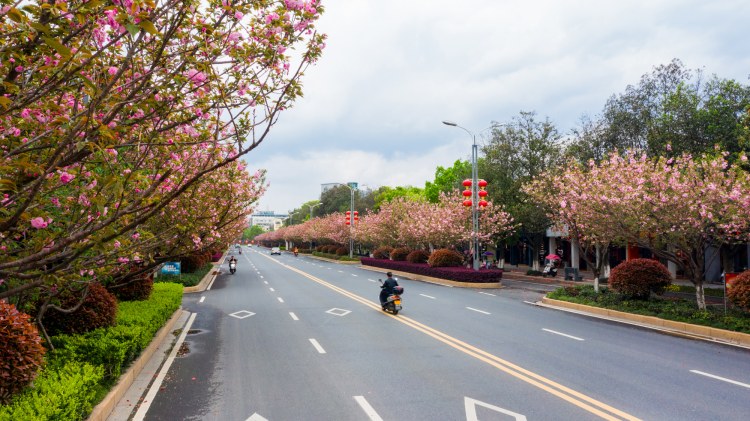
[[[747, 161], [744, 155], [739, 159]], [[750, 175], [730, 167], [725, 154], [649, 159], [628, 153], [592, 164], [584, 177], [593, 186], [586, 206], [573, 210], [565, 203], [566, 208], [594, 214], [586, 221], [598, 225], [602, 238], [637, 244], [674, 262], [695, 285], [697, 305], [705, 309], [709, 246], [750, 241]]]

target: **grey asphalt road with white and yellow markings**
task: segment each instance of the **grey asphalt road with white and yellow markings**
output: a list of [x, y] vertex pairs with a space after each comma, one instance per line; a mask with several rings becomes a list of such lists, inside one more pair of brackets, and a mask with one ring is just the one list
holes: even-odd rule
[[535, 288], [401, 279], [245, 248], [186, 295], [146, 420], [745, 420], [750, 352], [529, 304]]

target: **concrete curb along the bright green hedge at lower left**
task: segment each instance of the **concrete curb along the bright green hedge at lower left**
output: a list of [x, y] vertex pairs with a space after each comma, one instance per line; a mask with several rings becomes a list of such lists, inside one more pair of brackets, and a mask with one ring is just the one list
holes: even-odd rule
[[117, 406], [117, 403], [128, 391], [130, 386], [138, 377], [138, 374], [140, 374], [141, 370], [143, 370], [143, 367], [154, 355], [154, 352], [156, 352], [159, 344], [161, 344], [164, 338], [172, 332], [172, 328], [182, 315], [182, 312], [183, 310], [181, 308], [177, 309], [177, 311], [172, 314], [172, 317], [167, 320], [167, 323], [165, 323], [164, 326], [162, 326], [162, 328], [156, 332], [154, 339], [152, 339], [151, 343], [146, 347], [146, 349], [141, 352], [140, 357], [138, 357], [138, 359], [135, 360], [135, 362], [133, 362], [130, 367], [128, 367], [125, 374], [120, 376], [117, 384], [109, 391], [107, 396], [105, 396], [104, 399], [102, 399], [102, 401], [94, 407], [94, 409], [91, 411], [91, 415], [89, 415], [88, 417], [89, 421], [105, 421], [107, 417], [109, 417], [109, 415], [115, 409], [115, 406]]

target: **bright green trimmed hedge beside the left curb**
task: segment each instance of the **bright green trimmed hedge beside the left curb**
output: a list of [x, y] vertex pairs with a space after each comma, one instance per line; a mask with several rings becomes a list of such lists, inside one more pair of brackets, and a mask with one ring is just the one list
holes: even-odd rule
[[146, 301], [118, 304], [117, 325], [52, 337], [33, 387], [0, 407], [5, 420], [82, 420], [182, 303], [182, 285], [156, 283]]

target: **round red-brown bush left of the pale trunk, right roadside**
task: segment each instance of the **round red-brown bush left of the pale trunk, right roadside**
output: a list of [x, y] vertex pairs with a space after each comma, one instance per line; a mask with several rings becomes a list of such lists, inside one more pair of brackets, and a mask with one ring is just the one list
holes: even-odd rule
[[661, 295], [672, 284], [669, 270], [656, 260], [633, 259], [617, 265], [609, 274], [609, 285], [620, 294], [645, 300]]

